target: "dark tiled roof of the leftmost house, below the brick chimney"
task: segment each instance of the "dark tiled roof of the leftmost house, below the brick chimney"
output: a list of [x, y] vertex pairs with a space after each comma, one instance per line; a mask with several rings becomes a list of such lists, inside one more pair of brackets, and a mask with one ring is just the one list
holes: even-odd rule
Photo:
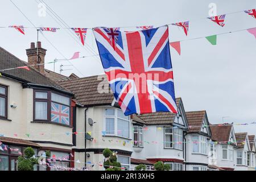
[[[15, 57], [2, 47], [0, 47], [0, 63], [0, 70], [27, 66], [25, 61], [18, 59], [18, 57]], [[13, 77], [16, 80], [20, 80], [22, 82], [51, 86], [67, 92], [67, 90], [60, 86], [57, 82], [52, 81], [42, 73], [36, 71], [34, 68], [30, 68], [30, 71], [27, 71], [26, 69], [11, 69], [9, 71], [1, 71], [1, 73], [3, 76]]]

